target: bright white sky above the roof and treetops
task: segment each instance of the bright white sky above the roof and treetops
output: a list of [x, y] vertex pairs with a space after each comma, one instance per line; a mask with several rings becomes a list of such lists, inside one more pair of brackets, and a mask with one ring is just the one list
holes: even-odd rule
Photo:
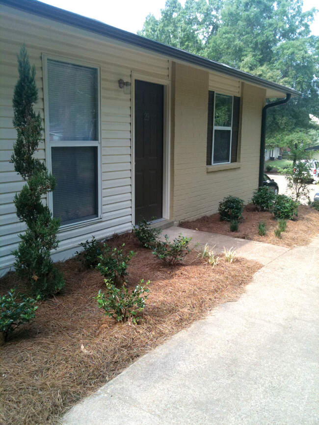
[[[160, 9], [165, 6], [165, 0], [42, 0], [61, 9], [70, 10], [79, 15], [97, 19], [108, 25], [136, 33], [142, 29], [146, 16], [149, 13], [160, 17]], [[185, 0], [180, 0], [184, 5]], [[319, 8], [317, 0], [304, 0], [303, 10], [312, 7]], [[314, 35], [319, 35], [319, 13], [311, 27]]]

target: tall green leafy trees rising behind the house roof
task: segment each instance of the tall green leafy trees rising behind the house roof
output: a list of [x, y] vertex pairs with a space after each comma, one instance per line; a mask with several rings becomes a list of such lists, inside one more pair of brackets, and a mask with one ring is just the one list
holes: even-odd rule
[[294, 133], [316, 142], [319, 126], [319, 37], [316, 9], [301, 0], [167, 0], [160, 19], [149, 15], [139, 35], [187, 50], [302, 93], [267, 114], [267, 144], [286, 146]]

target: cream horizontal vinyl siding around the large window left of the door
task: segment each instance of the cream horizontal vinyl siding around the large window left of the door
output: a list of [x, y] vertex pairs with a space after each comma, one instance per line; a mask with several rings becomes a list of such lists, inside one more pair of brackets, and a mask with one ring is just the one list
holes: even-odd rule
[[[170, 77], [165, 57], [0, 5], [0, 268], [13, 263], [10, 252], [17, 247], [18, 234], [25, 230], [13, 204], [15, 193], [24, 183], [9, 163], [16, 140], [12, 125], [12, 96], [18, 79], [16, 55], [23, 43], [30, 63], [36, 67], [39, 100], [35, 110], [43, 119], [43, 55], [95, 65], [101, 70], [103, 218], [60, 231], [59, 250], [70, 250], [92, 235], [103, 238], [132, 228], [131, 96], [118, 87], [118, 80], [131, 81], [132, 71], [162, 79]], [[37, 156], [46, 159], [44, 143]]]

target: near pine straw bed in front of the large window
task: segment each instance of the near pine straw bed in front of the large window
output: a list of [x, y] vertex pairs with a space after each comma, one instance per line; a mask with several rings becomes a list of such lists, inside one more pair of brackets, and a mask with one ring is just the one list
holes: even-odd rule
[[[132, 233], [115, 236], [109, 245], [123, 242], [125, 250], [137, 252], [128, 287], [141, 278], [152, 282], [144, 321], [118, 324], [104, 316], [92, 299], [104, 287], [102, 276], [85, 270], [76, 258], [59, 263], [65, 293], [41, 301], [34, 321], [0, 348], [0, 424], [57, 423], [66, 409], [136, 358], [205, 317], [217, 303], [237, 300], [261, 267], [238, 258], [212, 268], [192, 251], [172, 269], [141, 248]], [[14, 273], [0, 279], [0, 293], [15, 286]]]

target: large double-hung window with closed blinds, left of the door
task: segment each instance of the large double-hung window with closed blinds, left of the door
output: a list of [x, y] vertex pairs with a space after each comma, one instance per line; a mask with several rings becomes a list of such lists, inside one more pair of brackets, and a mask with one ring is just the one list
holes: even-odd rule
[[46, 67], [51, 206], [62, 226], [74, 225], [101, 214], [99, 70], [49, 58]]

